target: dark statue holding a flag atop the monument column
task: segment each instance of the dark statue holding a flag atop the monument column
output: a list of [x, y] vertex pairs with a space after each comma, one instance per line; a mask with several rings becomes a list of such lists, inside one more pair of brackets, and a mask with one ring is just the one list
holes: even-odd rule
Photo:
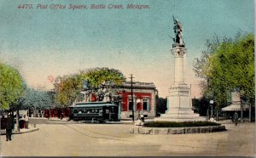
[[176, 46], [179, 46], [179, 47], [185, 47], [185, 43], [183, 41], [183, 25], [181, 24], [181, 22], [179, 22], [178, 20], [176, 20], [174, 18], [174, 16], [172, 15], [173, 17], [173, 22], [174, 22], [174, 26], [173, 26], [173, 30], [174, 30], [174, 33], [175, 33], [175, 38], [174, 38], [174, 44], [173, 44], [173, 48], [176, 47]]

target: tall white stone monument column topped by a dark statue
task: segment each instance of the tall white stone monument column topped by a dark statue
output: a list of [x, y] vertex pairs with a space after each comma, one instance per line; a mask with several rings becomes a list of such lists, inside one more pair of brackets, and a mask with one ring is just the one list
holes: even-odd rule
[[175, 57], [174, 83], [169, 90], [167, 97], [166, 114], [155, 118], [154, 121], [206, 121], [206, 118], [195, 114], [192, 110], [192, 99], [190, 88], [183, 80], [183, 56], [186, 54], [185, 43], [183, 42], [183, 25], [173, 17], [174, 21], [174, 44], [172, 54]]

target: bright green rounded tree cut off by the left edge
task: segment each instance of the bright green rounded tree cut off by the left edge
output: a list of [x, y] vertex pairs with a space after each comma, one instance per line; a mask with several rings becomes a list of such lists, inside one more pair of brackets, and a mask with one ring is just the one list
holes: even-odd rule
[[19, 71], [14, 67], [0, 63], [0, 108], [9, 109], [20, 99], [24, 91], [25, 82]]

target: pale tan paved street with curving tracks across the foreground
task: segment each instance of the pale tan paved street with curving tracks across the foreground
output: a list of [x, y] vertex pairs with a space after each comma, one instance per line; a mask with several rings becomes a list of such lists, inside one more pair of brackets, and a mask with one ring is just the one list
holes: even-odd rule
[[156, 156], [251, 155], [255, 153], [254, 123], [225, 125], [220, 133], [136, 135], [131, 124], [37, 124], [33, 133], [14, 135], [6, 142], [5, 156]]

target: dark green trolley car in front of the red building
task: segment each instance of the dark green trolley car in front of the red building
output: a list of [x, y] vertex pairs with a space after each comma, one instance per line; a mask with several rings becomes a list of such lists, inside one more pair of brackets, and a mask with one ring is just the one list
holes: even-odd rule
[[76, 103], [69, 106], [73, 121], [119, 121], [119, 107], [108, 102]]

